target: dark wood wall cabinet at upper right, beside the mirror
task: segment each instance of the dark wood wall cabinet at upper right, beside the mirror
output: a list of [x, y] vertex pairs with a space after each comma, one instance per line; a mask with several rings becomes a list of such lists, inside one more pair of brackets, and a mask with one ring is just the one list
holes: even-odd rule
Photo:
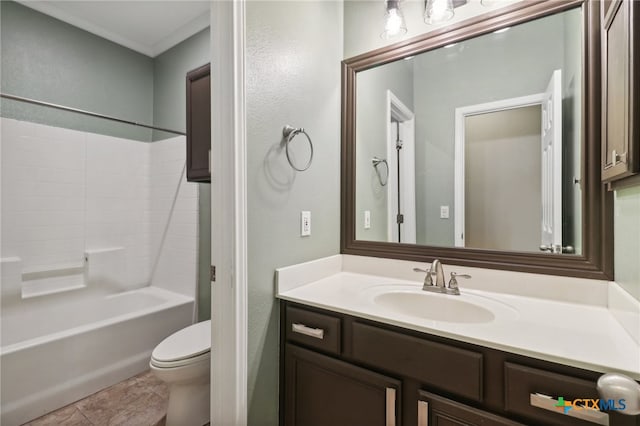
[[602, 180], [640, 171], [640, 2], [600, 3]]

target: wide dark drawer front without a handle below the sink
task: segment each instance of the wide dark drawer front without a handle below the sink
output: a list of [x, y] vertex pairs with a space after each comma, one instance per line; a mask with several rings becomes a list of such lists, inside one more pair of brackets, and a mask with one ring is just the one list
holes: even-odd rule
[[482, 354], [353, 323], [352, 355], [373, 367], [482, 401]]

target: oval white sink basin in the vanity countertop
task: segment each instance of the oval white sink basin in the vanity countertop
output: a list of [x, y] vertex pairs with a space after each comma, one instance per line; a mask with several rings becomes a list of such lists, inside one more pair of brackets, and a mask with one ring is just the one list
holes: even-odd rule
[[456, 299], [458, 296], [415, 291], [396, 291], [374, 297], [373, 302], [385, 309], [433, 321], [484, 323], [495, 315], [482, 306]]

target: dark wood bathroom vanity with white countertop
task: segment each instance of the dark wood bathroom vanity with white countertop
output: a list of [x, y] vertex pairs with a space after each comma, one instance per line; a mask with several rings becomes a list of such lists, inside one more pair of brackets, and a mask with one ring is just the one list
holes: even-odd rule
[[[640, 424], [616, 410], [565, 414], [556, 406], [560, 398], [593, 404], [604, 372], [640, 377], [640, 348], [615, 321], [607, 324], [606, 308], [464, 286], [462, 296], [426, 295], [420, 282], [362, 273], [372, 262], [407, 270], [411, 262], [336, 258], [356, 266], [331, 271], [327, 258], [319, 268], [278, 271], [281, 424]], [[435, 297], [444, 309], [425, 305], [422, 315], [408, 299], [389, 302], [390, 294]]]

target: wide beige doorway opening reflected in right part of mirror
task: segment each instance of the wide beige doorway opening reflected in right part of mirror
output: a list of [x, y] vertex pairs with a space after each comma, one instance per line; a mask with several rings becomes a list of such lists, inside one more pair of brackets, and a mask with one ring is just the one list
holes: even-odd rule
[[463, 116], [456, 246], [532, 251], [540, 245], [540, 105]]

